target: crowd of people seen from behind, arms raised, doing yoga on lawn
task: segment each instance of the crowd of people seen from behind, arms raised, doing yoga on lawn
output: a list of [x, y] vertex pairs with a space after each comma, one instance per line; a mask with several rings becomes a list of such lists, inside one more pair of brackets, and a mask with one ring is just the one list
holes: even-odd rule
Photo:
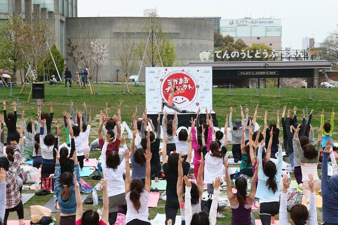
[[[296, 182], [305, 196], [304, 204], [294, 204], [290, 209], [293, 224], [317, 224], [316, 191], [320, 189], [323, 197], [322, 220], [325, 225], [337, 224], [338, 167], [333, 152], [335, 146], [331, 139], [335, 116], [333, 110], [330, 123], [325, 123], [325, 111], [322, 110], [317, 147], [314, 146], [314, 128], [311, 125], [312, 111], [307, 121], [303, 111], [302, 123], [298, 124], [297, 107], [293, 109], [293, 117], [292, 111], [286, 111], [284, 107], [281, 141], [279, 112], [277, 111], [276, 122], [268, 124], [268, 112], [265, 111], [264, 128], [261, 132], [261, 126], [255, 126], [258, 105], [253, 118], [249, 116], [248, 108], [243, 110], [240, 107], [241, 118], [235, 119], [234, 123], [234, 109], [231, 107], [224, 131], [217, 132], [214, 132], [208, 110], [206, 119], [200, 119], [200, 110], [196, 119], [191, 118], [190, 133], [188, 129], [177, 130], [176, 112], [173, 119], [169, 120], [164, 111], [162, 125], [161, 115], [157, 118], [157, 134], [147, 116], [147, 110], [142, 119], [135, 112], [131, 123], [133, 138], [128, 147], [126, 138], [121, 134], [121, 104], [117, 115], [112, 117], [108, 116], [107, 106], [106, 103], [106, 113], [100, 113], [97, 133], [104, 175], [100, 182], [103, 190], [100, 219], [95, 210], [83, 212], [80, 195], [80, 171], [84, 161], [88, 161], [90, 151], [88, 138], [91, 131], [91, 110], [87, 113], [84, 103], [83, 111], [74, 111], [73, 105], [69, 113], [63, 111], [64, 134], [59, 127], [61, 119], [57, 119], [52, 128], [52, 104], [48, 103], [48, 113], [42, 111], [41, 102], [37, 120], [30, 118], [26, 124], [22, 111], [22, 124], [17, 130], [16, 102], [13, 102], [13, 113], [7, 113], [6, 102], [3, 102], [3, 115], [0, 115], [0, 224], [6, 225], [9, 212], [13, 211], [17, 211], [19, 224], [24, 224], [20, 164], [33, 160], [34, 167], [42, 168], [42, 189], [51, 190], [54, 186], [57, 204], [61, 209], [60, 225], [112, 225], [117, 220], [118, 212], [126, 215], [127, 225], [150, 225], [148, 201], [151, 182], [158, 182], [158, 176], [162, 173], [167, 181], [166, 220], [163, 221], [166, 225], [175, 224], [178, 210], [183, 225], [215, 225], [219, 213], [219, 189], [224, 182], [232, 211], [232, 225], [254, 225], [253, 206], [259, 208], [262, 225], [275, 223], [275, 215], [278, 214], [280, 224], [288, 225], [287, 203], [291, 180], [290, 175], [282, 172], [282, 142], [290, 158]], [[7, 127], [6, 143], [4, 123]], [[147, 129], [148, 123], [150, 126]], [[161, 126], [164, 132], [162, 164]], [[234, 178], [229, 169], [230, 154], [227, 154], [229, 132], [232, 135], [233, 162], [240, 163], [240, 170]], [[59, 146], [61, 135], [67, 137], [67, 143]], [[121, 144], [123, 156], [119, 155]], [[328, 176], [329, 160], [332, 164], [331, 177]], [[131, 174], [129, 162], [133, 168]], [[319, 165], [322, 168], [321, 179], [317, 171]], [[193, 172], [190, 172], [190, 168]], [[54, 178], [50, 178], [51, 174], [54, 174]], [[188, 179], [188, 176], [195, 180]], [[232, 188], [232, 179], [235, 189]], [[212, 194], [212, 203], [208, 210], [201, 210], [204, 183], [208, 193]], [[250, 193], [247, 193], [250, 184]]]

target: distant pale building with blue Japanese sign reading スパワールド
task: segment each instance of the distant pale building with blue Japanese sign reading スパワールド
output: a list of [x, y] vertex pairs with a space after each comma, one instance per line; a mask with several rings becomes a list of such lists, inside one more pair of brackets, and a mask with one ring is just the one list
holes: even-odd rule
[[227, 19], [220, 20], [220, 34], [230, 35], [235, 41], [243, 41], [251, 46], [253, 43], [264, 43], [275, 50], [282, 49], [282, 26], [280, 19]]

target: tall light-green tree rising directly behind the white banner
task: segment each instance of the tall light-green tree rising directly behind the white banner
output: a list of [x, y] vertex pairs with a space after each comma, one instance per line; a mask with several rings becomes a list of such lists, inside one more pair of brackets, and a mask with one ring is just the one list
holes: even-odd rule
[[[150, 13], [149, 17], [145, 20], [142, 25], [141, 32], [145, 35], [144, 39], [141, 39], [137, 43], [136, 54], [140, 60], [142, 60], [144, 51], [147, 46], [146, 55], [143, 61], [143, 65], [145, 67], [155, 67], [163, 61], [170, 62], [176, 59], [176, 54], [172, 54], [172, 46], [167, 46], [167, 42], [169, 42], [169, 38], [166, 33], [162, 30], [162, 24], [159, 21], [159, 17], [156, 12]], [[148, 40], [149, 37], [149, 40]], [[148, 42], [148, 45], [147, 45]], [[171, 53], [167, 53], [166, 49], [162, 49], [162, 47], [166, 47], [166, 49], [170, 50]], [[168, 58], [169, 57], [169, 58]], [[163, 64], [164, 65], [164, 64]]]

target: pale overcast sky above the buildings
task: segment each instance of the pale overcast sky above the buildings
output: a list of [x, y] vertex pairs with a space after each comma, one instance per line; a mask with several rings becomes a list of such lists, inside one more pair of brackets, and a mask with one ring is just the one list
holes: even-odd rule
[[281, 19], [282, 48], [301, 49], [302, 38], [316, 45], [338, 28], [338, 0], [78, 0], [78, 17], [244, 17]]

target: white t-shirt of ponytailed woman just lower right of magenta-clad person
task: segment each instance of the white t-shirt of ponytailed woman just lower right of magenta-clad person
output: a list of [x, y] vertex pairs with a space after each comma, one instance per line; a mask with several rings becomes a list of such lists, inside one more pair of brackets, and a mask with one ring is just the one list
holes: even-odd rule
[[204, 160], [204, 183], [212, 184], [213, 181], [216, 180], [217, 177], [222, 178], [222, 182], [224, 182], [224, 166], [223, 159], [217, 158], [215, 156], [210, 155], [211, 152], [208, 152], [205, 155]]

